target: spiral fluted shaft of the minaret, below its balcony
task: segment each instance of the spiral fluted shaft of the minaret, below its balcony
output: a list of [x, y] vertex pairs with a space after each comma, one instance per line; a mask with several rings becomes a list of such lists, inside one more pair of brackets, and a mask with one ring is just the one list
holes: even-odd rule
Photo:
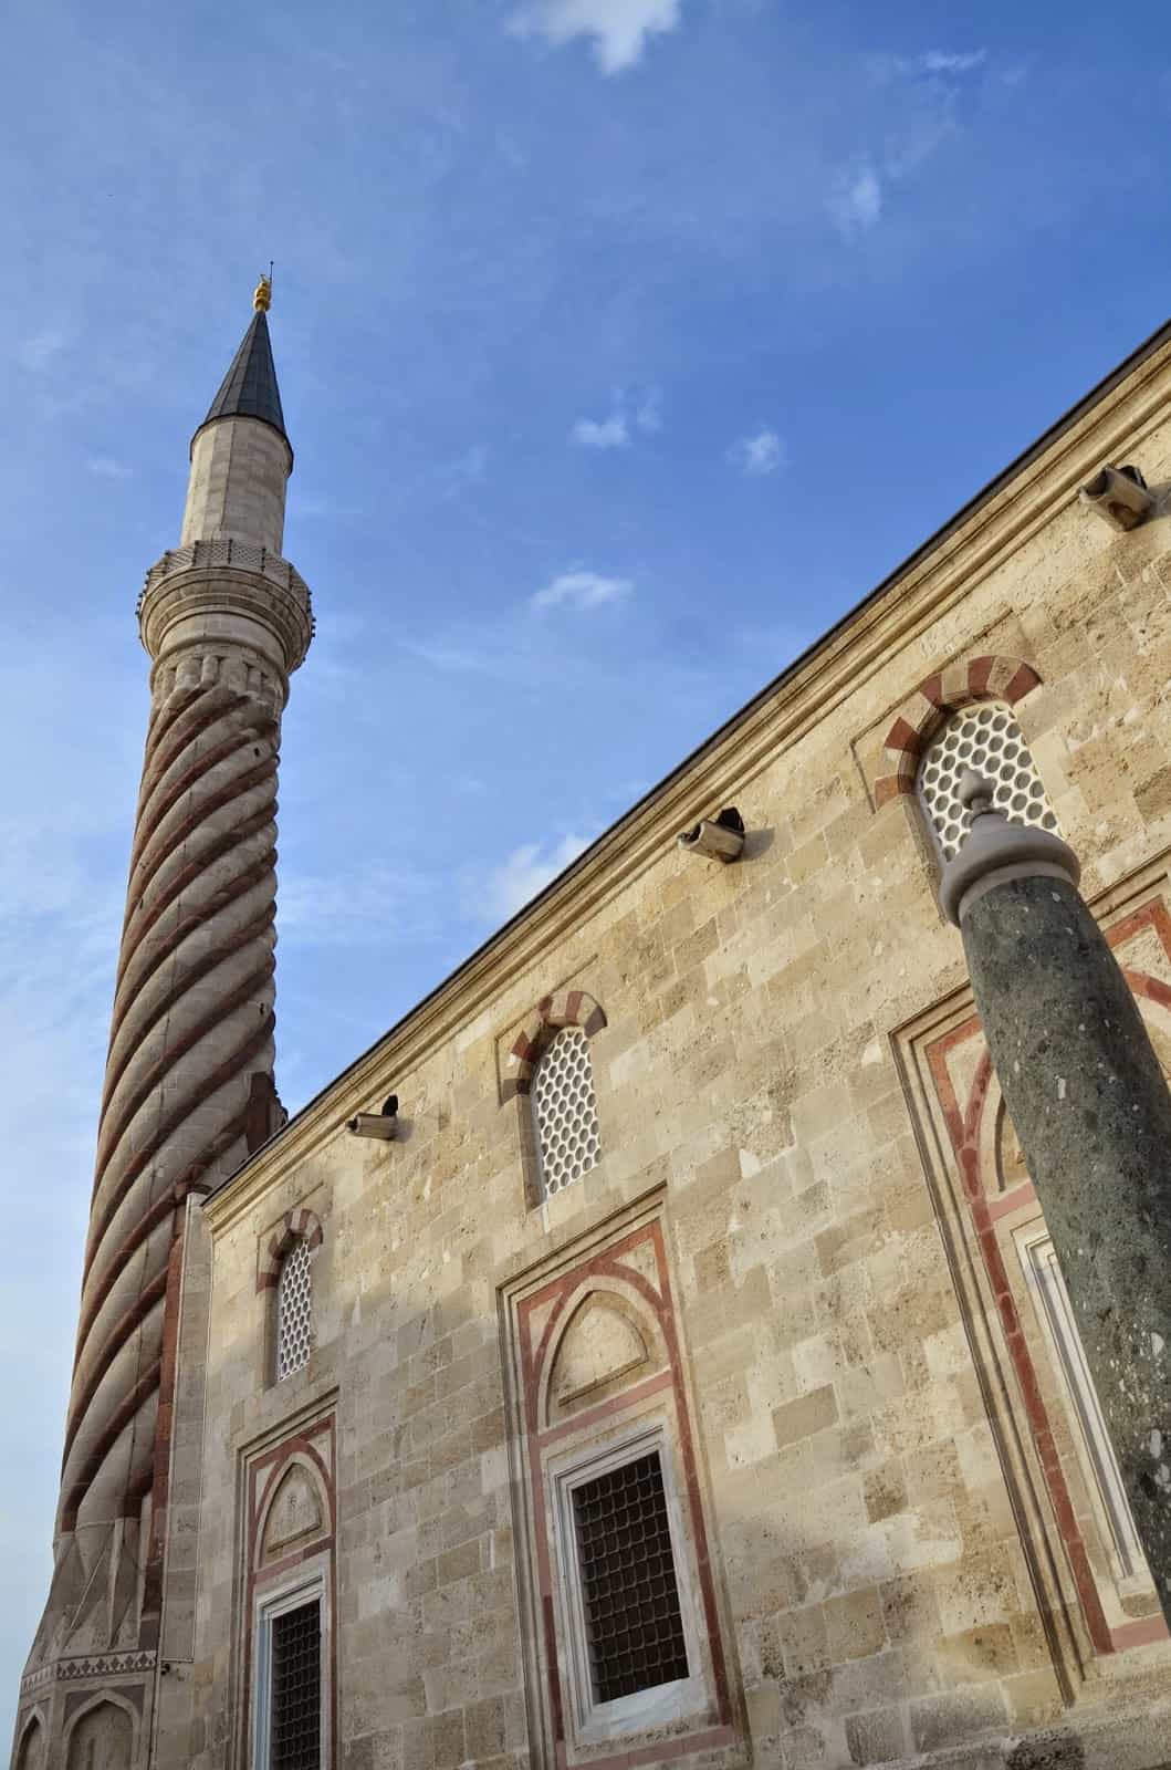
[[[170, 673], [168, 673], [170, 674]], [[60, 1528], [154, 1478], [175, 1209], [246, 1154], [272, 1074], [272, 694], [189, 658], [154, 706], [113, 1004]]]

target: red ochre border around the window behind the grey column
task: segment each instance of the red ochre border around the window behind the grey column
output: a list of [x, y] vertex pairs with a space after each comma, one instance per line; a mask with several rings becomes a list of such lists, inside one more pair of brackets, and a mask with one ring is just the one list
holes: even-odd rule
[[[1148, 903], [1141, 910], [1136, 910], [1132, 915], [1107, 929], [1106, 938], [1111, 947], [1118, 947], [1130, 940], [1144, 926], [1155, 929], [1167, 956], [1171, 958], [1171, 915], [1167, 913], [1167, 906], [1164, 903]], [[1137, 997], [1171, 1007], [1171, 988], [1167, 988], [1167, 984], [1160, 982], [1157, 977], [1150, 977], [1146, 972], [1134, 972], [1127, 966], [1123, 966], [1123, 975]], [[1111, 1628], [1102, 1609], [1102, 1598], [1093, 1577], [1090, 1552], [1077, 1522], [1077, 1513], [1074, 1512], [1074, 1501], [1061, 1469], [1061, 1457], [1058, 1453], [1052, 1425], [1042, 1400], [1037, 1366], [1028, 1347], [1024, 1324], [1021, 1322], [1021, 1312], [1017, 1310], [1017, 1301], [1008, 1283], [1008, 1271], [1005, 1267], [999, 1239], [996, 1235], [998, 1218], [1028, 1204], [1035, 1197], [1033, 1184], [1031, 1181], [1024, 1181], [1019, 1186], [1014, 1186], [1012, 1191], [1001, 1198], [989, 1198], [980, 1177], [980, 1129], [992, 1083], [992, 1058], [985, 1050], [980, 1064], [976, 1066], [968, 1103], [962, 1108], [955, 1097], [955, 1089], [952, 1087], [952, 1076], [946, 1066], [948, 1053], [957, 1044], [964, 1044], [978, 1034], [980, 1016], [973, 1014], [961, 1027], [953, 1027], [952, 1032], [927, 1048], [927, 1062], [939, 1094], [939, 1104], [943, 1106], [943, 1117], [946, 1120], [948, 1136], [959, 1165], [964, 1202], [968, 1204], [971, 1227], [980, 1246], [983, 1271], [992, 1289], [992, 1296], [996, 1297], [996, 1310], [1008, 1347], [1008, 1358], [1012, 1359], [1012, 1366], [1017, 1375], [1024, 1412], [1028, 1416], [1029, 1432], [1056, 1517], [1058, 1533], [1065, 1543], [1086, 1628], [1095, 1653], [1118, 1653], [1123, 1648], [1143, 1646], [1148, 1641], [1166, 1639], [1167, 1627], [1160, 1616], [1150, 1616]]]

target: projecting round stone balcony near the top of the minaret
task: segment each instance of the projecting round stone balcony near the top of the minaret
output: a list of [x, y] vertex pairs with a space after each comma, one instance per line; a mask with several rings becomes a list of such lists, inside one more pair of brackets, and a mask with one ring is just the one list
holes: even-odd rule
[[287, 674], [304, 660], [313, 639], [313, 598], [301, 573], [267, 547], [230, 536], [165, 552], [147, 572], [136, 612], [152, 658], [200, 644], [232, 616], [272, 632]]

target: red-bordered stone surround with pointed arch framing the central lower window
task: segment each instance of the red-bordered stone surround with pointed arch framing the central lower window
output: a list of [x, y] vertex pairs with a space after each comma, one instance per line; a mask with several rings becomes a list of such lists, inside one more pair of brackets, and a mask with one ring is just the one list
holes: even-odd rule
[[[727, 1761], [739, 1740], [732, 1667], [662, 1200], [610, 1220], [509, 1287], [506, 1333], [524, 1466], [517, 1524], [532, 1570], [524, 1593], [532, 1623], [529, 1680], [545, 1735], [534, 1763], [619, 1770], [697, 1754], [711, 1765]], [[662, 1471], [662, 1543], [670, 1540], [677, 1577], [672, 1641], [681, 1662], [672, 1662], [669, 1680], [651, 1673], [646, 1687], [610, 1701], [596, 1687], [598, 1625], [586, 1614], [577, 1503], [644, 1466]], [[637, 1551], [631, 1542], [631, 1565]]]

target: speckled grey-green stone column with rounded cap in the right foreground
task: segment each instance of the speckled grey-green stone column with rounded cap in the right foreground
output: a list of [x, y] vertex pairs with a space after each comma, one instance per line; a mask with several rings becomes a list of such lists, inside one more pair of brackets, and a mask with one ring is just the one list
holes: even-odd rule
[[975, 773], [961, 798], [939, 901], [1171, 1623], [1171, 1096], [1072, 850], [992, 811]]

